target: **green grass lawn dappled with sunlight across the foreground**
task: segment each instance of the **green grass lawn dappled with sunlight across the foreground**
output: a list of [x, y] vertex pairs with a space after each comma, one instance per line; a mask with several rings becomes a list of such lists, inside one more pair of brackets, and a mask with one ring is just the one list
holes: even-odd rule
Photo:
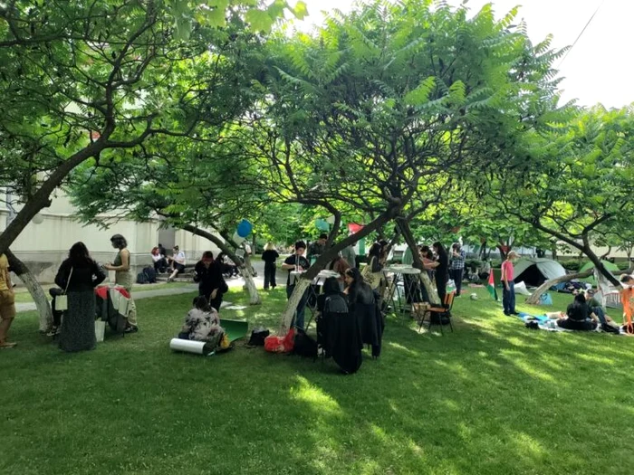
[[[138, 334], [75, 355], [20, 314], [0, 352], [0, 473], [632, 473], [634, 338], [528, 330], [477, 292], [453, 334], [389, 319], [351, 376], [262, 348], [172, 353], [191, 295], [139, 300]], [[223, 317], [276, 328], [284, 300]]]

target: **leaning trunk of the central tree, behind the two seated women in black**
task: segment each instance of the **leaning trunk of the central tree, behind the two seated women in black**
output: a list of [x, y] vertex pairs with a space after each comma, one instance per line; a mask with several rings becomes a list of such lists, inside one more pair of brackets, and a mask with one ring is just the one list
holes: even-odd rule
[[390, 206], [384, 213], [379, 214], [379, 216], [374, 221], [365, 225], [359, 233], [351, 234], [344, 240], [338, 242], [337, 244], [334, 244], [333, 246], [331, 246], [330, 249], [327, 249], [317, 258], [317, 261], [312, 264], [310, 269], [303, 273], [302, 279], [298, 280], [297, 284], [295, 285], [295, 290], [291, 295], [291, 298], [286, 303], [286, 308], [284, 309], [282, 316], [280, 317], [279, 335], [285, 335], [288, 332], [288, 329], [291, 327], [293, 315], [295, 314], [295, 309], [297, 309], [297, 304], [300, 302], [300, 299], [303, 295], [303, 291], [308, 289], [308, 286], [311, 284], [312, 280], [317, 277], [317, 274], [319, 274], [320, 271], [325, 269], [328, 262], [332, 261], [341, 250], [354, 244], [355, 242], [360, 241], [361, 239], [370, 235], [370, 233], [373, 233], [374, 231], [379, 229], [379, 227], [383, 224], [388, 223], [389, 221], [394, 219], [394, 217], [399, 214], [400, 208], [400, 205]]

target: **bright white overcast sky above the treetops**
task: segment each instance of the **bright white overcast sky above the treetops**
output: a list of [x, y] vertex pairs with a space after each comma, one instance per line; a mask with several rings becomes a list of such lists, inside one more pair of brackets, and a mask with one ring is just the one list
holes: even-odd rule
[[[351, 9], [352, 0], [304, 0], [310, 16], [301, 26], [321, 24], [321, 11]], [[460, 0], [448, 0], [459, 5]], [[469, 0], [472, 12], [485, 0]], [[494, 0], [497, 16], [506, 14], [514, 5], [522, 5], [518, 19], [524, 18], [534, 43], [548, 34], [554, 36], [552, 46], [570, 45], [581, 33], [599, 5], [588, 29], [560, 67], [565, 78], [561, 83], [562, 100], [577, 99], [590, 106], [601, 102], [606, 107], [622, 107], [634, 102], [634, 1], [633, 0]], [[557, 63], [555, 62], [555, 65]]]

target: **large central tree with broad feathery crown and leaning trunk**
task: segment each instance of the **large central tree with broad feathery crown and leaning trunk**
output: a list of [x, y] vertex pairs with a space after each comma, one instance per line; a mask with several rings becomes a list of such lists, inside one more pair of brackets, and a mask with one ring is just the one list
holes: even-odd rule
[[[281, 39], [267, 100], [243, 140], [258, 177], [281, 197], [375, 216], [363, 235], [399, 218], [413, 242], [409, 219], [551, 111], [544, 64], [557, 53], [545, 44], [536, 59], [513, 17], [498, 22], [490, 6], [467, 18], [464, 7], [379, 1], [334, 14], [313, 35]], [[322, 254], [295, 293], [359, 237]]]

